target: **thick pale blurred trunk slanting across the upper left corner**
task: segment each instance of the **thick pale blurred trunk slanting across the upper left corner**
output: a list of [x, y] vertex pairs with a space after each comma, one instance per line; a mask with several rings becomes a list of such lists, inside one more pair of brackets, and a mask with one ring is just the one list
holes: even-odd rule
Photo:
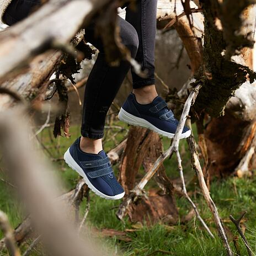
[[29, 18], [0, 35], [0, 82], [17, 74], [31, 57], [65, 49], [72, 37], [109, 0], [50, 0]]

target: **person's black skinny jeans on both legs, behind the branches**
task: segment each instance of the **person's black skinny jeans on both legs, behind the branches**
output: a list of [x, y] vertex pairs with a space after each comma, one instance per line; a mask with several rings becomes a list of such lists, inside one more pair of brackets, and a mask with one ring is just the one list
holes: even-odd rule
[[[24, 19], [37, 6], [40, 0], [13, 0], [4, 14], [7, 25]], [[122, 43], [130, 50], [147, 77], [141, 78], [131, 69], [134, 88], [154, 84], [154, 45], [156, 38], [157, 0], [138, 0], [136, 11], [126, 8], [125, 20], [119, 17]], [[84, 93], [81, 134], [89, 138], [102, 138], [106, 114], [118, 90], [130, 70], [130, 63], [121, 61], [118, 67], [111, 67], [105, 61], [102, 40], [94, 35], [94, 25], [86, 28], [85, 38], [94, 45], [99, 54], [89, 74]]]

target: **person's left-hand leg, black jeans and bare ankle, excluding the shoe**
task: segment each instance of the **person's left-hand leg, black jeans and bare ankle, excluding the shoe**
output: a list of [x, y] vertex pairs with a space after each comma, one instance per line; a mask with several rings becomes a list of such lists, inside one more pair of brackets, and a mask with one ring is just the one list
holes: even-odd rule
[[[122, 18], [119, 18], [119, 25], [122, 43], [135, 58], [138, 49], [137, 32]], [[84, 93], [80, 147], [84, 152], [98, 153], [102, 150], [106, 113], [130, 69], [130, 63], [121, 61], [118, 67], [111, 67], [106, 63], [102, 40], [95, 38], [93, 25], [86, 29], [85, 38], [100, 52], [89, 74]]]

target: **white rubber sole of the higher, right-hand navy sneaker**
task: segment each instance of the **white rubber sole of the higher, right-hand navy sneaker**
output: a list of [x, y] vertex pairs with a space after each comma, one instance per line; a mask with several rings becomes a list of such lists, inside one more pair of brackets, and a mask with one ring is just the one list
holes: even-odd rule
[[[129, 124], [129, 125], [146, 127], [148, 129], [150, 129], [154, 132], [157, 132], [160, 135], [166, 136], [168, 138], [173, 138], [174, 135], [175, 135], [175, 134], [172, 134], [170, 132], [166, 132], [166, 131], [162, 131], [162, 130], [158, 129], [156, 126], [152, 125], [147, 120], [142, 119], [142, 118], [138, 118], [137, 116], [128, 113], [123, 108], [120, 109], [119, 114], [118, 114], [118, 118], [121, 121], [127, 122], [127, 124]], [[191, 131], [188, 130], [188, 131], [184, 132], [180, 136], [180, 138], [188, 138], [190, 135], [191, 135]]]

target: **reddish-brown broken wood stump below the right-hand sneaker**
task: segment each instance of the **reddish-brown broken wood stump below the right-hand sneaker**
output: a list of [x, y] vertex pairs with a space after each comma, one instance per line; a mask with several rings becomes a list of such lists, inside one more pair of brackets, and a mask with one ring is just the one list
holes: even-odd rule
[[[163, 145], [158, 134], [143, 127], [130, 127], [119, 176], [126, 196], [132, 193], [135, 183], [140, 180], [140, 168], [143, 166], [147, 172], [162, 152]], [[161, 189], [152, 189], [147, 196], [142, 195], [129, 205], [127, 214], [132, 222], [146, 221], [148, 225], [159, 220], [168, 224], [177, 223], [178, 209], [173, 195], [173, 184], [167, 178], [163, 165], [159, 168], [156, 182]]]

